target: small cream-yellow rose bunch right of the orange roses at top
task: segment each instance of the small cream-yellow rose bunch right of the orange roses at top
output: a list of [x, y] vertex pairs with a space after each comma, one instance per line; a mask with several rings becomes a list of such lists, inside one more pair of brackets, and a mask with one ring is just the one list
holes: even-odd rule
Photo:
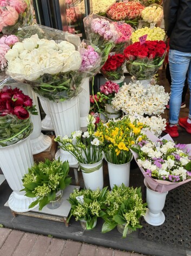
[[141, 17], [143, 21], [156, 23], [157, 26], [160, 26], [163, 18], [163, 8], [157, 4], [150, 5], [142, 10]]

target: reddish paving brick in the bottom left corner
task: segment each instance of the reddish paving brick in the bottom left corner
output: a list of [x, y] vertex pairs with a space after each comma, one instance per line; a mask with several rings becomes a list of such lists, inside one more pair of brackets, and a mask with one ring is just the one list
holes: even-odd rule
[[15, 248], [18, 246], [19, 242], [21, 241], [23, 235], [24, 235], [24, 232], [12, 230], [0, 249], [0, 255], [11, 256], [12, 253], [14, 253]]

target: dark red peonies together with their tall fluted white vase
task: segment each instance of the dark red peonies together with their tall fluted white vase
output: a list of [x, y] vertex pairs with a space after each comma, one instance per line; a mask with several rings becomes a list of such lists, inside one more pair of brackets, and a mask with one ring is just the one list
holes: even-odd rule
[[32, 123], [29, 113], [36, 115], [32, 99], [18, 88], [4, 86], [0, 91], [0, 163], [2, 172], [13, 190], [9, 197], [11, 210], [28, 211], [33, 198], [19, 192], [23, 186], [22, 176], [33, 164], [29, 135]]

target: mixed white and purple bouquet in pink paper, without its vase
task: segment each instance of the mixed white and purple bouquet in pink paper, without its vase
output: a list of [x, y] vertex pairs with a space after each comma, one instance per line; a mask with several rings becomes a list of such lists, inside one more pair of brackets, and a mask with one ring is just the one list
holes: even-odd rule
[[132, 148], [141, 172], [154, 191], [165, 192], [191, 181], [191, 144], [177, 144], [169, 135], [160, 140], [147, 132]]

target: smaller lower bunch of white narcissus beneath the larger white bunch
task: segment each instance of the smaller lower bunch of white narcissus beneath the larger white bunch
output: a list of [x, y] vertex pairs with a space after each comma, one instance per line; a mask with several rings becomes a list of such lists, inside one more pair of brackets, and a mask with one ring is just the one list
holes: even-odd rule
[[150, 130], [155, 136], [160, 136], [162, 131], [165, 130], [167, 120], [162, 118], [161, 116], [140, 116], [134, 115], [129, 116], [131, 122], [134, 122], [136, 119], [147, 126], [147, 128], [143, 128], [144, 130]]

